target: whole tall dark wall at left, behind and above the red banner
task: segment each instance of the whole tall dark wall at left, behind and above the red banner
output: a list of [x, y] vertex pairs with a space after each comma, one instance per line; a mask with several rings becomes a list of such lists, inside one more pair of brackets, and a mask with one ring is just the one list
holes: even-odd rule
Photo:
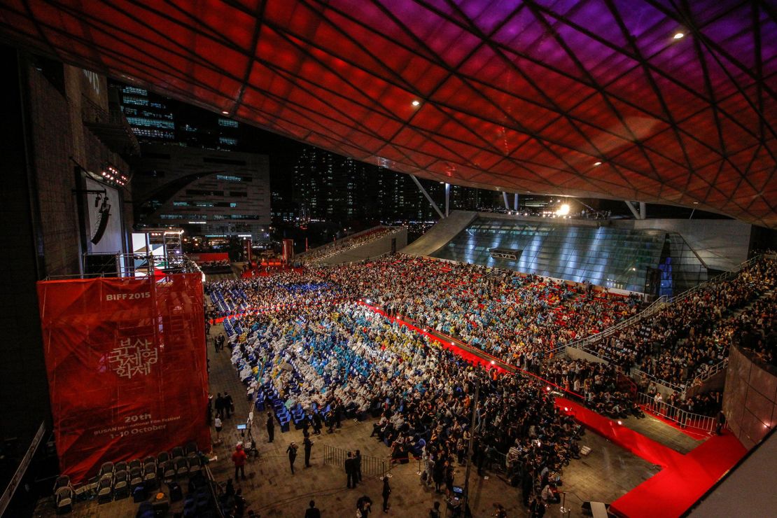
[[82, 70], [2, 45], [0, 68], [0, 440], [18, 439], [17, 451], [0, 461], [5, 488], [40, 422], [51, 432], [35, 283], [79, 273], [76, 162], [95, 172], [106, 162], [128, 168], [82, 123], [82, 96], [100, 99]]

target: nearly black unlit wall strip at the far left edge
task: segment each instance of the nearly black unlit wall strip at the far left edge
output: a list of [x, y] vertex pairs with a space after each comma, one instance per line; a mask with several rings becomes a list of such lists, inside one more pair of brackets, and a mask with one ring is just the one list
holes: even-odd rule
[[[31, 169], [29, 133], [23, 123], [26, 92], [16, 50], [0, 46], [0, 156], [3, 200], [0, 203], [0, 439], [16, 437], [17, 447], [0, 462], [0, 487], [5, 488], [16, 464], [29, 447], [40, 422], [49, 419], [48, 387], [35, 281], [43, 275], [36, 244], [37, 196]], [[49, 427], [51, 429], [51, 427]]]

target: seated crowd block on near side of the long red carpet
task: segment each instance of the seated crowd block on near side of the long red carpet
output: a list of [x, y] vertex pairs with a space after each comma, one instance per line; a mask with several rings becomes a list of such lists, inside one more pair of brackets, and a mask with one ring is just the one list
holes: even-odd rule
[[578, 455], [580, 426], [543, 384], [474, 367], [361, 304], [284, 308], [235, 318], [231, 329], [232, 362], [249, 392], [277, 393], [317, 430], [374, 416], [373, 435], [392, 457], [423, 457], [439, 491], [451, 492], [471, 433], [479, 470], [500, 464], [527, 506], [555, 498], [553, 483]]

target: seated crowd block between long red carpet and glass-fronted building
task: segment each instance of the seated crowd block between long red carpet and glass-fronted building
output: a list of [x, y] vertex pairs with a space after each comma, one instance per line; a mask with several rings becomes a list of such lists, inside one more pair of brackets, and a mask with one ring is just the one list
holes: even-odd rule
[[636, 296], [609, 294], [590, 284], [409, 256], [318, 273], [391, 315], [523, 366], [635, 315], [640, 305]]

